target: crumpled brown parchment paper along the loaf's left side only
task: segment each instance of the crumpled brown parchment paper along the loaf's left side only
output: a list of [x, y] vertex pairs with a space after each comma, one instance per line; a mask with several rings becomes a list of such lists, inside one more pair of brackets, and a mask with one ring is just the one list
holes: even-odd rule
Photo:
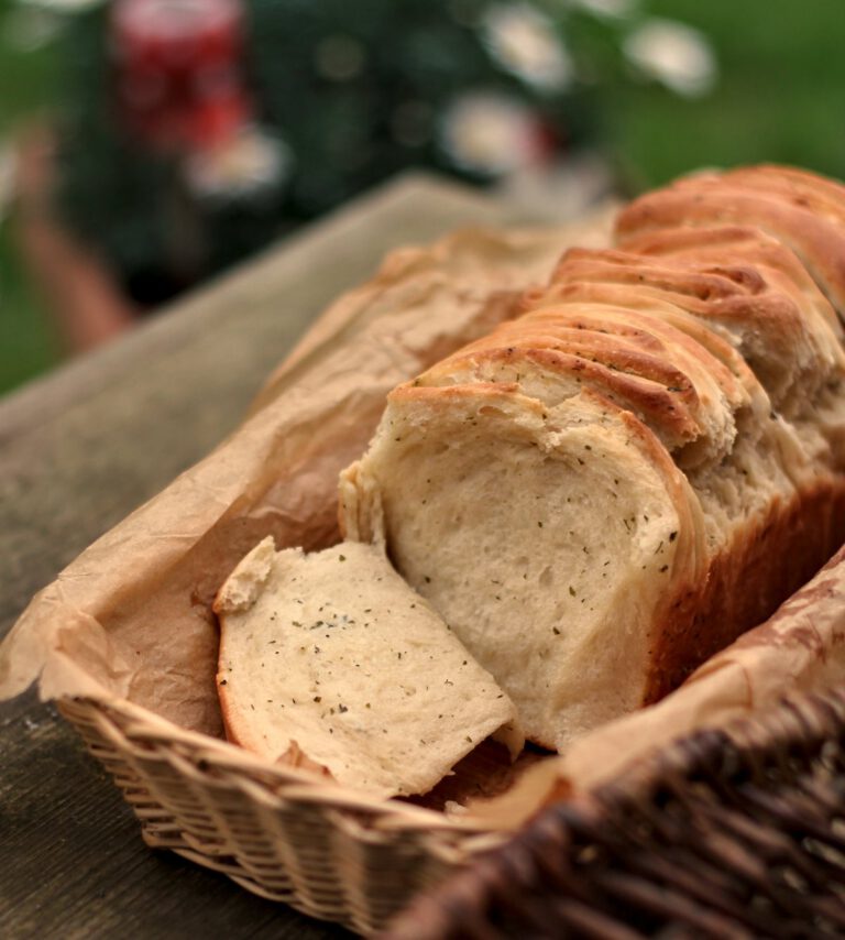
[[315, 548], [337, 532], [337, 479], [387, 392], [515, 313], [610, 210], [557, 230], [468, 230], [391, 254], [271, 376], [242, 427], [106, 534], [32, 601], [0, 647], [0, 698], [118, 697], [220, 735], [210, 603], [255, 543]]

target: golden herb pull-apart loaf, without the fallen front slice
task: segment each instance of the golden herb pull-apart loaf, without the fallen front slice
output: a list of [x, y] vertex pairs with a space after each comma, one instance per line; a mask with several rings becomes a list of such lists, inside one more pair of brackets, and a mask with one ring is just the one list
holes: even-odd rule
[[[341, 480], [552, 748], [651, 702], [845, 536], [845, 188], [759, 167], [634, 203], [525, 313], [389, 396]], [[833, 306], [832, 306], [833, 305]]]

